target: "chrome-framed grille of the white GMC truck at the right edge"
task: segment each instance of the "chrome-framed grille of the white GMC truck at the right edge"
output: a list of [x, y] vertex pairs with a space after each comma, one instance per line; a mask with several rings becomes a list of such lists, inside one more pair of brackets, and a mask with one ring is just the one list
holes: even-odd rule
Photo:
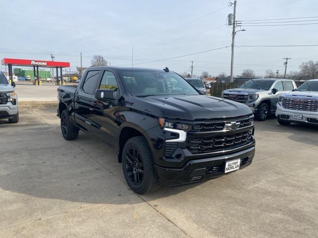
[[308, 111], [308, 112], [318, 111], [318, 100], [283, 97], [282, 103], [283, 103], [283, 107], [286, 109]]

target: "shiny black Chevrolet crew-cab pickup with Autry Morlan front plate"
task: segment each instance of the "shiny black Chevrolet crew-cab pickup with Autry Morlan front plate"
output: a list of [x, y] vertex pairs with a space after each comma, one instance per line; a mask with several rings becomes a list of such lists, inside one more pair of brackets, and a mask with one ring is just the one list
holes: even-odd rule
[[113, 147], [137, 193], [220, 177], [254, 157], [251, 110], [200, 95], [168, 68], [90, 67], [58, 98], [63, 137], [82, 130]]

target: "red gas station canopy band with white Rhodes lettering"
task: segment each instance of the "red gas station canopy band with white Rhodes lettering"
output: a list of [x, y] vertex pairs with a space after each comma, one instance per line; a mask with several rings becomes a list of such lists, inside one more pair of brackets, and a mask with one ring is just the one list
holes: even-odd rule
[[70, 62], [46, 61], [46, 60], [22, 60], [7, 59], [1, 60], [2, 65], [19, 65], [19, 66], [39, 66], [39, 67], [70, 67]]

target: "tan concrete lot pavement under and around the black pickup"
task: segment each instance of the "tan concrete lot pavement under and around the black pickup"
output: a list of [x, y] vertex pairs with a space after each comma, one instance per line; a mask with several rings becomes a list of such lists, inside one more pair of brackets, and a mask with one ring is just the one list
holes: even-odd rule
[[108, 146], [64, 140], [53, 109], [22, 109], [0, 120], [0, 237], [317, 238], [317, 135], [257, 121], [246, 169], [137, 195]]

